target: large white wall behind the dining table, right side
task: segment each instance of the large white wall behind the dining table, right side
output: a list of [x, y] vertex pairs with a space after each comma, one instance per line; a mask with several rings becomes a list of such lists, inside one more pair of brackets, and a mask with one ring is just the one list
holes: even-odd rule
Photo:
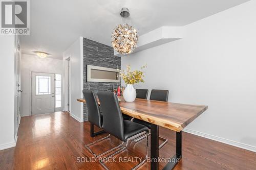
[[208, 105], [186, 131], [256, 151], [256, 1], [185, 26], [183, 39], [122, 58], [169, 102]]

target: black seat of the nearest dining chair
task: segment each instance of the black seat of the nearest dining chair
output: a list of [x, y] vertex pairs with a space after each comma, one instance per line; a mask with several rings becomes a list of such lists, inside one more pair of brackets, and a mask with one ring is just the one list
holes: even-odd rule
[[129, 120], [123, 120], [124, 138], [128, 139], [141, 132], [148, 132], [148, 128], [144, 125], [131, 122]]

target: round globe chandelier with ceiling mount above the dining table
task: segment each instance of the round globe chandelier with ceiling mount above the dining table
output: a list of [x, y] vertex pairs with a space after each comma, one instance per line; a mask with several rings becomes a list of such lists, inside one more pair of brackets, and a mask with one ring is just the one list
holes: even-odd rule
[[[122, 18], [130, 16], [128, 8], [122, 8], [120, 15]], [[138, 43], [138, 33], [133, 26], [129, 26], [127, 23], [124, 25], [118, 25], [112, 32], [111, 43], [115, 51], [121, 54], [132, 53]]]

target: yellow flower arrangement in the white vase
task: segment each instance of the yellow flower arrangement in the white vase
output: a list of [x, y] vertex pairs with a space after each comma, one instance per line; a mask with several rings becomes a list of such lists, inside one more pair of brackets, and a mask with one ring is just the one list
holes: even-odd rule
[[143, 69], [146, 68], [146, 65], [142, 66], [140, 70], [131, 71], [131, 65], [126, 65], [126, 71], [120, 71], [120, 77], [123, 79], [125, 84], [135, 84], [139, 82], [144, 82], [144, 71]]

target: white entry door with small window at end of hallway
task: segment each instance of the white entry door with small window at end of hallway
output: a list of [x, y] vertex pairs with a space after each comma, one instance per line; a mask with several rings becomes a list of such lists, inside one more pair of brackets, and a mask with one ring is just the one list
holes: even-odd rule
[[32, 115], [54, 112], [54, 74], [32, 72]]

